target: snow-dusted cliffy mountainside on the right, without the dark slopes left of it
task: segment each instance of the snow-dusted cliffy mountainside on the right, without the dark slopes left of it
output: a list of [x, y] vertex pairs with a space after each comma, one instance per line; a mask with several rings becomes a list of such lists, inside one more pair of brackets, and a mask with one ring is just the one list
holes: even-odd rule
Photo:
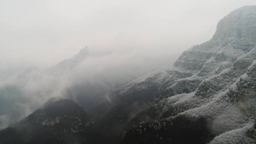
[[256, 6], [241, 7], [183, 52], [159, 82], [161, 100], [131, 120], [122, 142], [256, 143], [255, 24]]

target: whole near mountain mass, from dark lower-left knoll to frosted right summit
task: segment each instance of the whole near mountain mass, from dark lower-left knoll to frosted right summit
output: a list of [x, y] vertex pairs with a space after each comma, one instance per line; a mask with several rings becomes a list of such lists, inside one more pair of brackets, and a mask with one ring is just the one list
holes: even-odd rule
[[256, 6], [217, 24], [213, 38], [186, 50], [87, 113], [47, 102], [0, 131], [0, 144], [255, 144]]

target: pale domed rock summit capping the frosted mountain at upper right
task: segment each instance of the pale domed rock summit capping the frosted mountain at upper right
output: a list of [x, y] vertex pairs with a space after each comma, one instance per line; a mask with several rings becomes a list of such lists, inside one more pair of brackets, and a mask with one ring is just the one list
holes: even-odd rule
[[213, 40], [248, 39], [256, 43], [256, 5], [240, 7], [217, 24]]

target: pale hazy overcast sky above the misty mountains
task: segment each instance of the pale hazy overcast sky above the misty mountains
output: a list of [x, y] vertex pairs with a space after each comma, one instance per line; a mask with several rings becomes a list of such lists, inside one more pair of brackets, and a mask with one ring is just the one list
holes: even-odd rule
[[181, 53], [255, 0], [0, 0], [0, 60], [54, 65], [84, 46]]

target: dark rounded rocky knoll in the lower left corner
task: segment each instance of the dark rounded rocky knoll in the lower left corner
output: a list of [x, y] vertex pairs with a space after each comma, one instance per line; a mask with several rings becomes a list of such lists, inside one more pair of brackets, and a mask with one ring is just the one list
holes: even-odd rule
[[0, 144], [85, 143], [88, 114], [71, 99], [60, 99], [0, 131]]

